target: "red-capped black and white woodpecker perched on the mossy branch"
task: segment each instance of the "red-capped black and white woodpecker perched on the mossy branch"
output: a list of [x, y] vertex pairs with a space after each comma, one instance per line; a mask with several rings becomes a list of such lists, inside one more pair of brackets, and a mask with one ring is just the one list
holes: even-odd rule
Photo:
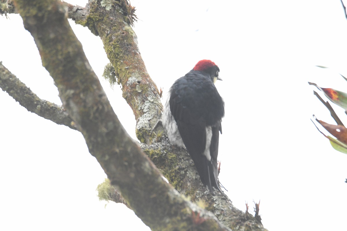
[[185, 146], [200, 179], [213, 193], [220, 192], [218, 142], [222, 134], [224, 102], [214, 83], [221, 80], [211, 60], [201, 60], [171, 86], [162, 122], [172, 144]]

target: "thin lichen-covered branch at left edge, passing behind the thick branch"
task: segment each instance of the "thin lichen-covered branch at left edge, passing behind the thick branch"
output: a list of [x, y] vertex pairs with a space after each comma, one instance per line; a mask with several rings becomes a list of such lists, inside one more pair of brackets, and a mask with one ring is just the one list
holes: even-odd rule
[[3, 66], [2, 62], [0, 62], [0, 88], [29, 112], [49, 119], [56, 124], [62, 124], [76, 130], [73, 120], [62, 106], [40, 99], [30, 88]]

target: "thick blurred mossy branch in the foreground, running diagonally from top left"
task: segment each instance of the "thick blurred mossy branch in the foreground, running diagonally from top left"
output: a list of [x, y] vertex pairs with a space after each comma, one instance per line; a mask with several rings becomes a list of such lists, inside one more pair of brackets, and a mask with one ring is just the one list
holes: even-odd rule
[[[137, 216], [152, 230], [228, 230], [212, 213], [186, 201], [167, 184], [126, 133], [68, 24], [64, 4], [58, 0], [15, 3], [43, 66], [58, 87], [64, 108], [111, 185], [119, 188]], [[201, 218], [197, 224], [193, 213]]]

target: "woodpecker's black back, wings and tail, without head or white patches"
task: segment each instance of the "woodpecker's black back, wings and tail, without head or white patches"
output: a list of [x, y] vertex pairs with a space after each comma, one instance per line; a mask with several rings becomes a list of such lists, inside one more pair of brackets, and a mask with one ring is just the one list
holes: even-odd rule
[[[194, 161], [201, 181], [212, 190], [211, 178], [215, 176], [217, 165], [210, 163], [203, 155], [206, 147], [206, 126], [213, 128], [213, 153], [211, 154], [215, 156], [213, 159], [217, 164], [219, 134], [216, 135], [214, 127], [216, 123], [220, 124], [220, 119], [224, 115], [223, 101], [212, 81], [201, 75], [188, 73], [172, 85], [169, 103], [171, 114], [175, 118], [183, 143]], [[221, 109], [214, 108], [216, 105], [221, 105], [222, 112], [220, 112]], [[219, 188], [215, 183], [218, 179], [216, 177], [213, 177], [212, 185]]]

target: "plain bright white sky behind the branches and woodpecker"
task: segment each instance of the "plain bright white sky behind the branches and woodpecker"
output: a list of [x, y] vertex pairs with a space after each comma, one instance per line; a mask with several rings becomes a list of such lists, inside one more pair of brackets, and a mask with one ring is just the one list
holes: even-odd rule
[[[69, 1], [84, 6], [86, 1]], [[135, 26], [152, 79], [166, 92], [201, 59], [220, 68], [225, 100], [220, 180], [239, 209], [261, 200], [269, 230], [346, 230], [347, 156], [310, 118], [334, 123], [314, 87], [347, 92], [347, 19], [339, 0], [139, 1]], [[60, 104], [18, 15], [0, 18], [0, 61], [39, 97]], [[71, 23], [111, 104], [135, 138], [119, 86], [102, 80], [99, 37]], [[6, 33], [4, 33], [6, 32]], [[315, 65], [329, 66], [321, 69]], [[105, 174], [80, 133], [27, 112], [0, 91], [0, 230], [149, 230], [96, 197]], [[335, 107], [347, 124], [342, 109]], [[322, 131], [324, 131], [322, 129]]]

